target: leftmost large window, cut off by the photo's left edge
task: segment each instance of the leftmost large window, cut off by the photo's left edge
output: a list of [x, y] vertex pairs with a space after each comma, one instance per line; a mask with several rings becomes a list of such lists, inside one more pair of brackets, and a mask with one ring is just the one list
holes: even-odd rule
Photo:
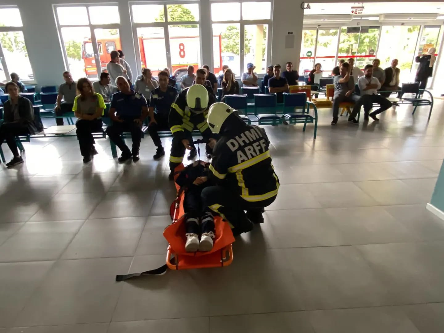
[[34, 80], [21, 27], [18, 8], [0, 7], [0, 82], [9, 81], [11, 73], [24, 82]]

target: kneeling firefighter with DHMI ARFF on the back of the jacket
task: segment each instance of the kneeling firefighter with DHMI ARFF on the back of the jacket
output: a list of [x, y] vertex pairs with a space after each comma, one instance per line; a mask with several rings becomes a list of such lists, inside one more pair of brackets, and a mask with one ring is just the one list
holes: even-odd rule
[[217, 185], [202, 190], [202, 206], [228, 220], [234, 235], [248, 232], [253, 223], [264, 221], [264, 207], [274, 202], [279, 189], [270, 141], [264, 129], [247, 125], [225, 103], [211, 105], [207, 121], [219, 135], [209, 176]]

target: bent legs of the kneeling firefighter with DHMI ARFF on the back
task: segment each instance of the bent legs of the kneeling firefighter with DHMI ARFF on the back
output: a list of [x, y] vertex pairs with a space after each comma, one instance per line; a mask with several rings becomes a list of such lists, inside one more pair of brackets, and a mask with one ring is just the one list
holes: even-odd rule
[[208, 186], [202, 190], [201, 198], [202, 206], [230, 222], [231, 231], [237, 236], [251, 231], [253, 223], [264, 222], [264, 207], [274, 202], [276, 196], [263, 201], [248, 202], [222, 186]]

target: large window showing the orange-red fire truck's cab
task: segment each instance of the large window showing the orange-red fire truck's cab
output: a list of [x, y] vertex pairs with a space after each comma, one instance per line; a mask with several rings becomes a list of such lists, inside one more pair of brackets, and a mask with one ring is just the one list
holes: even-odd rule
[[67, 70], [74, 79], [98, 79], [111, 51], [122, 49], [118, 6], [56, 6], [55, 12]]

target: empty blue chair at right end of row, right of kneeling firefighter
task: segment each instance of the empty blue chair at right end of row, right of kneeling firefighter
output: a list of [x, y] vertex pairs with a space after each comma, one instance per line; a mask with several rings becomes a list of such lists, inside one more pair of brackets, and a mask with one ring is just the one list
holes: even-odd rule
[[[313, 106], [314, 116], [309, 115], [310, 106]], [[299, 111], [297, 111], [299, 110]], [[316, 139], [317, 132], [317, 108], [314, 103], [307, 101], [307, 95], [305, 92], [297, 93], [284, 93], [284, 118], [288, 119], [290, 124], [304, 124], [307, 127], [307, 123], [314, 123], [313, 139]]]

